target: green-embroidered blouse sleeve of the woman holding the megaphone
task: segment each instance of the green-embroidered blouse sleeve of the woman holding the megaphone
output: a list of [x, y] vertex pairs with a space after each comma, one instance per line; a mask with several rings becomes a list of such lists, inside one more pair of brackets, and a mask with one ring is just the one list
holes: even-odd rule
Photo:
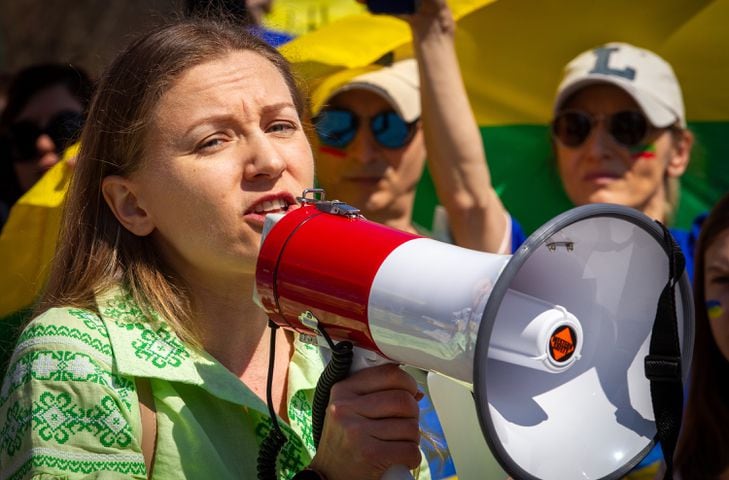
[[23, 331], [0, 389], [2, 478], [146, 478], [134, 381], [101, 320], [52, 309]]

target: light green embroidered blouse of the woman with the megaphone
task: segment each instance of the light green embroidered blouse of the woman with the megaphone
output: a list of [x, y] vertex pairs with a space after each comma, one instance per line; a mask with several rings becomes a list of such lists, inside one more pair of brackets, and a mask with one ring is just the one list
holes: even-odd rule
[[[0, 479], [147, 478], [135, 378], [157, 409], [152, 478], [256, 478], [271, 429], [264, 402], [217, 360], [183, 344], [121, 291], [99, 314], [54, 308], [23, 331], [0, 389]], [[278, 456], [290, 478], [314, 454], [316, 347], [294, 343]]]

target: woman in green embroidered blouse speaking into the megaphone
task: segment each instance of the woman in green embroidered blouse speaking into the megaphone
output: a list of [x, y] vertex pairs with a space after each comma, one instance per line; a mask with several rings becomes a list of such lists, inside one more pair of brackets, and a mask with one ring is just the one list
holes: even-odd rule
[[265, 215], [313, 184], [304, 108], [286, 60], [235, 24], [160, 27], [107, 68], [0, 389], [3, 476], [255, 478], [276, 425], [263, 478], [418, 467], [422, 393], [394, 364], [334, 386], [315, 447], [318, 349], [253, 298]]

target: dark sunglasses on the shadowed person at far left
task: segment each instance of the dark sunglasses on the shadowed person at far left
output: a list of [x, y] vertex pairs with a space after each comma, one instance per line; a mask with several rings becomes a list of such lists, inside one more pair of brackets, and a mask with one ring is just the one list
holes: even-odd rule
[[61, 153], [78, 138], [83, 123], [84, 116], [81, 113], [64, 110], [54, 115], [44, 128], [31, 121], [20, 121], [10, 125], [4, 141], [7, 142], [13, 161], [30, 161], [38, 156], [36, 147], [38, 137], [43, 134], [51, 137], [56, 152]]

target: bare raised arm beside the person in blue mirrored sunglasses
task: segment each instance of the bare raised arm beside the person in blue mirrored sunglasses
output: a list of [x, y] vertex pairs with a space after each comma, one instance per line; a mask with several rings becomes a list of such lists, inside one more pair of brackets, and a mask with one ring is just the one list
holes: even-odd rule
[[404, 17], [420, 69], [428, 166], [456, 244], [510, 253], [506, 210], [491, 185], [481, 134], [461, 78], [455, 22], [445, 0], [422, 0]]

